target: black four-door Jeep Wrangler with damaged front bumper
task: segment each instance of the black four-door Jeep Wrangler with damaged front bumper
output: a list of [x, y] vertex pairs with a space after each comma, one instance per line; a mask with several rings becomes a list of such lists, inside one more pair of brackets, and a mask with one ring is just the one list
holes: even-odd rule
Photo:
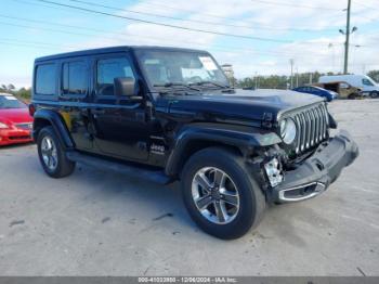
[[244, 235], [267, 203], [325, 191], [358, 155], [326, 102], [236, 90], [205, 51], [117, 47], [35, 61], [34, 138], [44, 171], [77, 162], [167, 184], [181, 180], [194, 221]]

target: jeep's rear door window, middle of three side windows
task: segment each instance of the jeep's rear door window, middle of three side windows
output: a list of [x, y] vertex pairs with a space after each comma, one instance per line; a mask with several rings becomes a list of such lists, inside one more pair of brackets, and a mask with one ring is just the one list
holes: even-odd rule
[[63, 64], [63, 94], [87, 93], [87, 65], [84, 62], [67, 62]]

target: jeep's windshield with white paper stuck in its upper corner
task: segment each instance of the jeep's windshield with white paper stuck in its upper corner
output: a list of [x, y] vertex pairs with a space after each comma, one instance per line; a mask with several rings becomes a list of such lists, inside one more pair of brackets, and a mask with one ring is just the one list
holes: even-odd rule
[[225, 75], [208, 53], [138, 50], [136, 55], [152, 87], [228, 86]]

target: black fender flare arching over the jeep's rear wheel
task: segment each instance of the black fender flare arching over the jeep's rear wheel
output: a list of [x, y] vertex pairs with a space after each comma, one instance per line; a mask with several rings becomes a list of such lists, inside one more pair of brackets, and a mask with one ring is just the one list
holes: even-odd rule
[[38, 109], [35, 113], [34, 118], [35, 120], [32, 125], [32, 137], [35, 141], [37, 141], [38, 132], [40, 131], [40, 128], [38, 127], [39, 121], [45, 120], [49, 121], [50, 125], [54, 128], [55, 133], [66, 149], [75, 146], [66, 124], [60, 114], [50, 109], [42, 108]]

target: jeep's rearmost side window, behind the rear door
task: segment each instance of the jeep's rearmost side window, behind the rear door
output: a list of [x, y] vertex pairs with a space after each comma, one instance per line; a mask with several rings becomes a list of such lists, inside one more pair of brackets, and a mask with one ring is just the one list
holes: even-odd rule
[[36, 69], [36, 93], [53, 95], [55, 94], [55, 64], [38, 65]]

